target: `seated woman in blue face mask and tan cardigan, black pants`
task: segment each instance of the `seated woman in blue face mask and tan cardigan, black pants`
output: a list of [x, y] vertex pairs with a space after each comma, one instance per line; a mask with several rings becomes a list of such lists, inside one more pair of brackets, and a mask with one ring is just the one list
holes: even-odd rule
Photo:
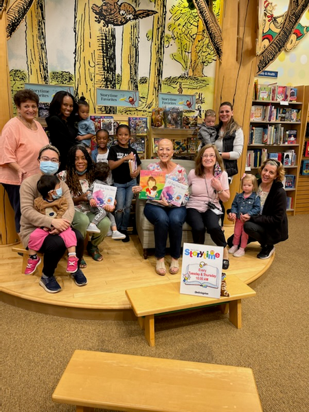
[[[52, 198], [48, 199], [49, 196], [45, 196], [45, 201], [51, 200], [53, 202], [57, 201], [59, 198], [64, 198], [67, 203], [67, 209], [62, 214], [62, 217], [54, 217], [52, 212], [43, 214], [42, 211], [38, 211], [38, 205], [36, 204], [36, 206], [34, 206], [34, 201], [40, 194], [38, 192], [38, 181], [41, 181], [41, 177], [43, 175], [54, 175], [58, 171], [58, 149], [51, 145], [44, 146], [39, 152], [38, 161], [41, 173], [34, 174], [30, 178], [25, 179], [25, 181], [21, 184], [20, 237], [25, 247], [44, 253], [43, 275], [39, 284], [46, 290], [46, 292], [57, 293], [61, 290], [61, 286], [54, 277], [54, 272], [58, 262], [67, 249], [65, 241], [61, 236], [57, 235], [67, 231], [67, 229], [71, 226], [71, 221], [74, 216], [74, 205], [69, 192], [69, 187], [67, 187], [65, 182], [59, 181], [50, 193]], [[39, 245], [40, 249], [34, 248], [32, 242], [30, 241], [31, 235], [37, 228], [42, 227], [48, 231], [48, 235], [44, 237], [43, 243]], [[71, 273], [77, 286], [84, 286], [87, 284], [87, 279], [80, 270], [80, 260], [84, 251], [84, 239], [78, 230], [72, 229], [72, 231], [76, 236], [76, 257], [78, 258], [78, 262], [77, 271], [74, 273], [72, 273], [72, 271], [69, 272]], [[36, 262], [30, 262], [30, 264], [34, 264], [30, 265], [32, 267], [29, 268], [31, 270], [29, 270], [29, 273], [27, 274], [33, 273], [39, 263], [35, 255], [32, 257], [34, 257]], [[34, 270], [32, 270], [33, 268]]]

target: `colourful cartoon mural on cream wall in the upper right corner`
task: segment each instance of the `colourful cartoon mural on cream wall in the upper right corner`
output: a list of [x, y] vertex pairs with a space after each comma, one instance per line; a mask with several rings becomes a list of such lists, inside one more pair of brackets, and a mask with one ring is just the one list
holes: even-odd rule
[[[308, 84], [309, 1], [277, 0], [273, 3], [261, 0], [260, 3], [263, 22], [261, 51], [272, 44], [277, 49], [277, 54], [272, 58], [267, 69], [278, 72], [277, 82], [280, 84], [288, 86]], [[290, 23], [291, 18], [293, 18], [292, 23]], [[291, 30], [290, 34], [287, 32], [288, 27]], [[278, 34], [281, 34], [279, 39]], [[269, 80], [260, 78], [259, 82], [267, 84]]]

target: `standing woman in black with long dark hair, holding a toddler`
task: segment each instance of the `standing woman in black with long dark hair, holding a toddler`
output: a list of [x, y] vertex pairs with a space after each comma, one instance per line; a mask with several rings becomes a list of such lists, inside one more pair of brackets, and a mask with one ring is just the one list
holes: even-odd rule
[[77, 143], [78, 130], [74, 126], [77, 111], [78, 104], [67, 91], [57, 91], [49, 106], [46, 123], [50, 141], [60, 152], [60, 170], [65, 170], [69, 149]]

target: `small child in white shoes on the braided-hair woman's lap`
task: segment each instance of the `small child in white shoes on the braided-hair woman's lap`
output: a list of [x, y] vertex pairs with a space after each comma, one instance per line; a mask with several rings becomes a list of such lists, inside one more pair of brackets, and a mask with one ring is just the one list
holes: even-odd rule
[[103, 207], [98, 206], [97, 201], [93, 197], [93, 186], [95, 185], [95, 183], [99, 183], [100, 185], [108, 185], [108, 183], [106, 183], [106, 179], [108, 178], [108, 173], [109, 173], [109, 166], [107, 163], [104, 163], [104, 162], [95, 163], [95, 167], [93, 169], [95, 180], [93, 181], [92, 185], [89, 187], [89, 190], [87, 190], [87, 199], [89, 200], [90, 211], [95, 214], [95, 217], [89, 223], [89, 226], [87, 227], [87, 231], [91, 233], [100, 233], [100, 229], [98, 228], [97, 225], [98, 223], [100, 223], [102, 219], [105, 218], [105, 216], [107, 216], [109, 220], [111, 220], [111, 230], [113, 232], [111, 238], [113, 240], [122, 240], [126, 238], [126, 235], [117, 231], [117, 226], [116, 226], [114, 215], [111, 212], [106, 211]]

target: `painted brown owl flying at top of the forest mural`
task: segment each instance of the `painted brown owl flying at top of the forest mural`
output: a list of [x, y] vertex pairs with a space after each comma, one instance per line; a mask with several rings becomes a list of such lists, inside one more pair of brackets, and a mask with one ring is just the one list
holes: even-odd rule
[[102, 21], [104, 26], [124, 25], [128, 21], [144, 19], [157, 13], [154, 10], [135, 10], [129, 3], [118, 4], [118, 0], [102, 0], [100, 7], [93, 4], [91, 9], [96, 14], [95, 21], [97, 23]]

